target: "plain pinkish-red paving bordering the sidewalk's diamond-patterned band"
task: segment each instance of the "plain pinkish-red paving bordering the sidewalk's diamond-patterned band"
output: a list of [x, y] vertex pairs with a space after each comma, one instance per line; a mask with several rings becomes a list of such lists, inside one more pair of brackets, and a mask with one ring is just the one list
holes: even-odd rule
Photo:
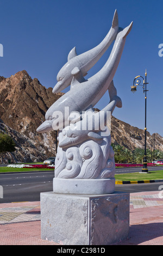
[[[130, 197], [158, 193], [131, 193]], [[40, 202], [0, 204], [0, 209], [35, 205], [40, 206]], [[40, 221], [1, 224], [0, 245], [58, 245], [52, 241], [42, 240], [40, 234]], [[163, 245], [163, 204], [136, 209], [130, 207], [129, 240], [118, 245]]]

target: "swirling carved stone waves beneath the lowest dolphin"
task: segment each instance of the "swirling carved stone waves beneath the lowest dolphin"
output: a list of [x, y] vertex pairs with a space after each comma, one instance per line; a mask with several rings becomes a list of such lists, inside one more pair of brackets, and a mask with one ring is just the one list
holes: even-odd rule
[[[58, 140], [64, 139], [62, 132]], [[111, 136], [97, 142], [88, 139], [67, 149], [58, 147], [55, 160], [55, 178], [63, 179], [108, 179], [114, 178], [114, 151]]]

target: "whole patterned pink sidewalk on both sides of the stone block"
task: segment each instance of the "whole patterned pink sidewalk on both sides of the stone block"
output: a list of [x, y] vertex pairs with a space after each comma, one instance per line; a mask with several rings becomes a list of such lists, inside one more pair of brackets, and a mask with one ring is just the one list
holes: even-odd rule
[[[163, 245], [160, 191], [130, 193], [129, 240], [119, 245]], [[40, 202], [0, 204], [0, 245], [58, 245], [41, 239]]]

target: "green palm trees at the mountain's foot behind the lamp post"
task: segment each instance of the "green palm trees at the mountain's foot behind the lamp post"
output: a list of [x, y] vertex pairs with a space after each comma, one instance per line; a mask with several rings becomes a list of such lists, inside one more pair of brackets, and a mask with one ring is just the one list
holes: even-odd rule
[[[117, 144], [111, 144], [115, 153], [116, 163], [143, 163], [144, 149], [135, 148], [131, 151], [123, 146]], [[159, 150], [151, 151], [147, 149], [147, 162], [151, 163], [153, 161], [153, 155], [155, 159], [163, 159], [163, 152]], [[151, 161], [152, 160], [152, 161]]]

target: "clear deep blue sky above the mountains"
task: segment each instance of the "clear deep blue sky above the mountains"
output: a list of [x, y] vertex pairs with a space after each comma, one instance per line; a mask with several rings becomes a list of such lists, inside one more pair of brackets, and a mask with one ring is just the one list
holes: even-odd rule
[[[0, 75], [9, 77], [26, 70], [46, 88], [55, 85], [58, 71], [74, 46], [80, 54], [101, 42], [110, 29], [115, 9], [121, 27], [133, 21], [114, 77], [123, 107], [115, 109], [113, 115], [144, 129], [145, 97], [141, 87], [133, 94], [130, 86], [134, 77], [145, 76], [147, 69], [147, 130], [163, 136], [163, 57], [158, 55], [158, 46], [163, 43], [162, 1], [1, 0], [0, 8], [0, 44], [4, 47]], [[110, 51], [87, 77], [102, 68]], [[96, 107], [102, 109], [108, 101], [106, 92]]]

